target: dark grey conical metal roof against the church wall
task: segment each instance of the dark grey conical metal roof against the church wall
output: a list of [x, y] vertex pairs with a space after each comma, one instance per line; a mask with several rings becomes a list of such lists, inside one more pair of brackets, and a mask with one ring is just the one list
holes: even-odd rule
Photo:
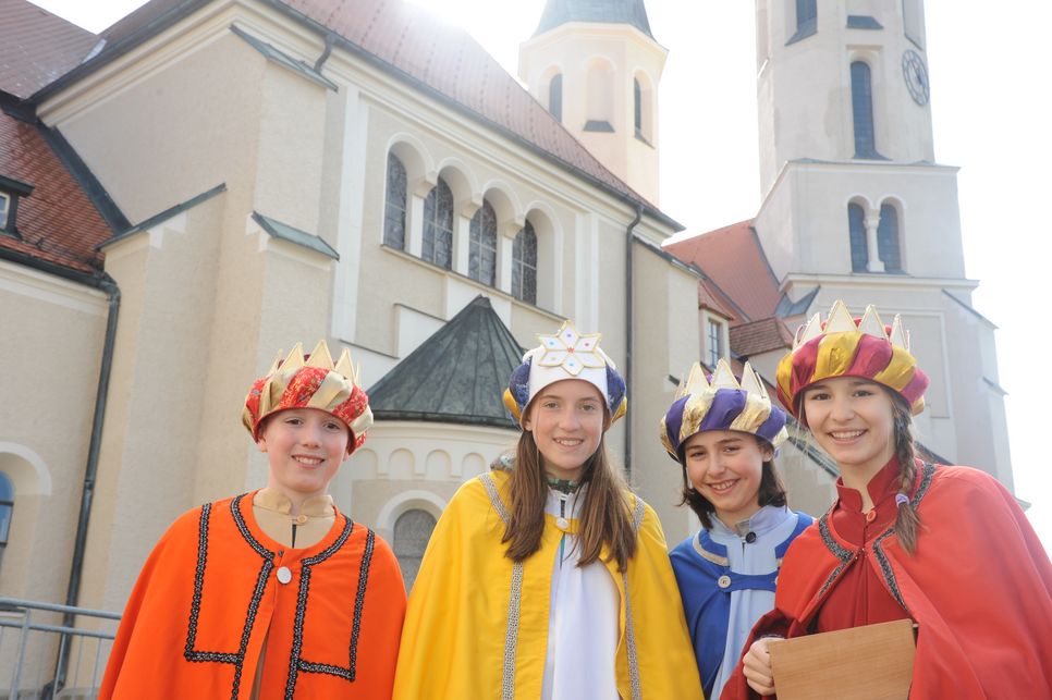
[[523, 348], [479, 295], [374, 384], [378, 420], [517, 428], [501, 396]]

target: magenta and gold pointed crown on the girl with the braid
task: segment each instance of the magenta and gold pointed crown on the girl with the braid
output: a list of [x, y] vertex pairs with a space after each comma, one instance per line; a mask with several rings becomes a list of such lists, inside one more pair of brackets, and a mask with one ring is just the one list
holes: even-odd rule
[[872, 305], [855, 319], [843, 302], [834, 302], [822, 322], [821, 314], [796, 331], [793, 351], [778, 365], [778, 396], [796, 418], [802, 392], [835, 377], [861, 377], [902, 396], [916, 415], [925, 409], [928, 376], [909, 352], [909, 334], [895, 316], [886, 327]]

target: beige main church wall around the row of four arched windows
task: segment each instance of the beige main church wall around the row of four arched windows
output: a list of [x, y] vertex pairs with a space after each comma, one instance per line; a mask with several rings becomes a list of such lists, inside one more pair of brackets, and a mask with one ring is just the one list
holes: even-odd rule
[[[603, 332], [604, 347], [624, 364], [628, 205], [341, 50], [325, 69], [340, 89], [327, 89], [267, 61], [230, 33], [231, 21], [295, 57], [320, 52], [317, 37], [269, 10], [217, 2], [41, 108], [133, 222], [225, 184], [105, 248], [123, 300], [88, 542], [89, 560], [107, 566], [86, 568], [85, 605], [120, 610], [174, 517], [262, 483], [266, 460], [240, 414], [252, 380], [279, 348], [321, 337], [360, 348], [383, 358], [370, 363], [377, 376], [363, 377], [369, 385], [426, 337], [408, 337], [401, 316], [441, 322], [484, 293], [523, 346], [571, 317], [582, 330]], [[466, 279], [466, 257], [450, 272], [412, 249], [381, 246], [387, 153], [395, 146], [417, 208], [440, 175], [450, 181], [460, 236], [484, 199], [498, 210], [502, 256], [526, 218], [535, 222], [543, 265], [537, 306], [510, 296], [504, 258], [496, 287], [487, 287]], [[339, 261], [269, 236], [250, 219], [254, 210], [319, 236]], [[418, 219], [409, 226], [419, 233]], [[670, 233], [648, 218], [637, 226], [649, 241]], [[637, 248], [635, 256], [636, 318], [645, 328], [636, 332], [631, 397], [634, 477], [677, 523], [671, 532], [678, 537], [686, 520], [670, 505], [675, 472], [653, 434], [666, 408], [666, 376], [698, 347], [696, 326], [680, 322], [695, 303], [695, 279], [650, 253]], [[648, 311], [668, 305], [673, 311]], [[381, 535], [393, 526], [400, 494], [428, 492], [429, 502], [444, 503], [468, 476], [436, 476], [437, 450], [450, 465], [457, 451], [481, 455], [472, 458], [474, 469], [515, 438], [448, 431], [448, 449], [421, 453], [423, 472], [392, 478], [397, 463], [381, 447], [409, 433], [420, 450], [433, 438], [425, 425], [378, 426], [333, 484], [352, 516], [377, 520]], [[610, 446], [623, 453], [623, 443], [617, 426]], [[387, 472], [371, 476], [370, 464]]]

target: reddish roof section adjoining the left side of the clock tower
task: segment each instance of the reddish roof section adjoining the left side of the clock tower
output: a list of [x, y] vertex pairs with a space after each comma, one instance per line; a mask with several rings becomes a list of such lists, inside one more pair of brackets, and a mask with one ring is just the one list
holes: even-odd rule
[[737, 320], [774, 316], [782, 294], [753, 220], [670, 243], [664, 249], [696, 265], [715, 282], [733, 306], [743, 311]]

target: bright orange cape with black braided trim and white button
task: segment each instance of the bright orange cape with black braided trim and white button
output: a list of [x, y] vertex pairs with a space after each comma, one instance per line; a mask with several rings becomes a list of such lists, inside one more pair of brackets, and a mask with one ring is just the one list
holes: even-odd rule
[[264, 640], [260, 699], [390, 698], [404, 615], [397, 562], [368, 528], [338, 512], [320, 542], [285, 549], [250, 494], [218, 501], [154, 548], [99, 698], [248, 698]]

